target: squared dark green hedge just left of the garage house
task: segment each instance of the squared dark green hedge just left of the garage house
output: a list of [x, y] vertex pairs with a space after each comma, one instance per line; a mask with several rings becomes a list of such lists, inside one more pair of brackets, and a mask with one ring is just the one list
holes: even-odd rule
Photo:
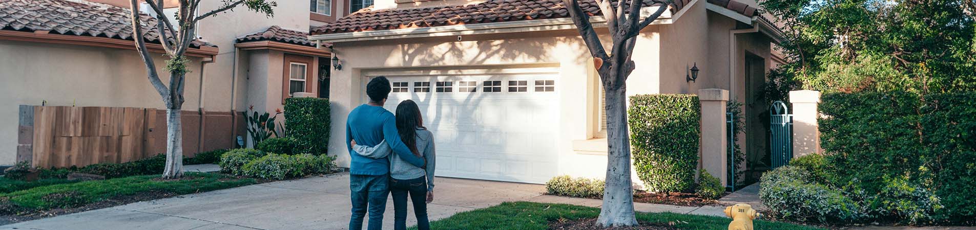
[[320, 154], [329, 149], [331, 115], [327, 98], [285, 99], [285, 135], [295, 139], [296, 153]]

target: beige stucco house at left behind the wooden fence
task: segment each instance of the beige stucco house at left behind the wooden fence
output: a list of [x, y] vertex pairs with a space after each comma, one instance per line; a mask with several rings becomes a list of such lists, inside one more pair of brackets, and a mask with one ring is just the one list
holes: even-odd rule
[[[0, 0], [0, 120], [8, 121], [0, 123], [0, 167], [28, 160], [33, 151], [30, 141], [20, 138], [20, 105], [160, 109], [157, 129], [147, 141], [156, 143], [153, 154], [164, 152], [164, 105], [135, 50], [128, 2]], [[328, 79], [328, 71], [319, 69], [330, 65], [331, 55], [316, 49], [306, 36], [312, 23], [323, 23], [311, 19], [314, 15], [338, 15], [338, 10], [331, 11], [343, 3], [318, 2], [321, 6], [311, 8], [309, 1], [278, 1], [273, 18], [237, 9], [200, 21], [201, 38], [188, 52], [186, 155], [236, 147], [237, 136], [247, 136], [240, 112], [252, 105], [273, 112], [296, 92], [328, 95], [327, 84], [319, 85], [319, 79]], [[203, 1], [200, 11], [222, 4]], [[143, 13], [150, 14], [147, 9]], [[161, 68], [165, 64], [157, 37], [153, 33], [144, 39], [158, 54], [156, 66]], [[159, 71], [168, 82], [168, 74]]]

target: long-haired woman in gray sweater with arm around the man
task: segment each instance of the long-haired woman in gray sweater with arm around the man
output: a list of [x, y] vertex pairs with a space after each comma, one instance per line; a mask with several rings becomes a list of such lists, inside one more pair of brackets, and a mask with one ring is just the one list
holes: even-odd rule
[[417, 216], [417, 228], [430, 229], [427, 219], [427, 204], [433, 201], [434, 146], [433, 134], [424, 128], [421, 110], [413, 100], [404, 100], [396, 106], [396, 130], [403, 143], [426, 161], [424, 168], [417, 168], [400, 159], [386, 145], [386, 140], [376, 146], [357, 145], [352, 140], [352, 150], [370, 158], [389, 159], [389, 192], [393, 195], [393, 227], [407, 229], [407, 196], [413, 202]]

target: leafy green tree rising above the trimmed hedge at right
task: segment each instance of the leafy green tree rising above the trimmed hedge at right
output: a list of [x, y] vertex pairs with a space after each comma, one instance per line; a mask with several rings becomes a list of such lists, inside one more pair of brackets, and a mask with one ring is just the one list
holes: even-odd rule
[[762, 0], [787, 34], [790, 61], [767, 99], [824, 92], [976, 90], [976, 1]]

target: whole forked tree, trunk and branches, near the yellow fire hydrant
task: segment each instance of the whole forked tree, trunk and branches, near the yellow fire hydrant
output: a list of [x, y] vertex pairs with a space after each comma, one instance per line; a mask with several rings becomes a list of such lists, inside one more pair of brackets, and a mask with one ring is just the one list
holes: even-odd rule
[[[606, 19], [610, 41], [610, 55], [603, 48], [596, 30], [590, 24], [590, 16], [580, 8], [577, 0], [563, 0], [580, 35], [590, 49], [596, 72], [603, 84], [607, 123], [607, 173], [603, 191], [603, 206], [596, 225], [633, 226], [637, 219], [633, 212], [633, 188], [630, 185], [630, 136], [627, 130], [627, 78], [636, 68], [631, 55], [640, 30], [661, 17], [672, 0], [648, 1], [660, 8], [647, 18], [640, 19], [644, 1], [638, 0], [591, 0], [595, 1]], [[614, 3], [616, 2], [616, 6]]]

